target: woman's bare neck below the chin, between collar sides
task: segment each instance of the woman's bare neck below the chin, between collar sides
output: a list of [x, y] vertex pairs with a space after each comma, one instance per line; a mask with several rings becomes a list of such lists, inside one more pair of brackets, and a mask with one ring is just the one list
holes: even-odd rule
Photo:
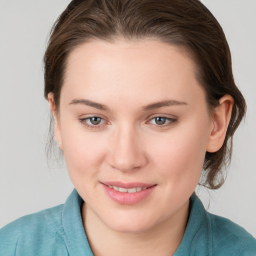
[[139, 232], [118, 232], [106, 226], [84, 203], [84, 229], [95, 256], [172, 255], [185, 232], [189, 201], [168, 219]]

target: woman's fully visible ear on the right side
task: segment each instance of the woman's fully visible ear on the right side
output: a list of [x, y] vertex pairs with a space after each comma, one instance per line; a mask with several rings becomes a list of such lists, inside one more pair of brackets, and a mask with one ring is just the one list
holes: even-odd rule
[[210, 131], [206, 146], [206, 151], [208, 152], [216, 152], [223, 145], [234, 99], [232, 96], [226, 94], [218, 102], [219, 105], [212, 114], [213, 128]]

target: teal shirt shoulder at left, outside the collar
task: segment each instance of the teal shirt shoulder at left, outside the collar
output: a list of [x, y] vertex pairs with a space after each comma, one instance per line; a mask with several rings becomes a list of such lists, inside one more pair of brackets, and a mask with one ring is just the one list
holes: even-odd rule
[[[50, 244], [61, 241], [63, 228], [58, 205], [18, 218], [0, 229], [0, 255], [50, 255]], [[61, 243], [61, 242], [60, 242]], [[25, 248], [25, 251], [24, 251]]]

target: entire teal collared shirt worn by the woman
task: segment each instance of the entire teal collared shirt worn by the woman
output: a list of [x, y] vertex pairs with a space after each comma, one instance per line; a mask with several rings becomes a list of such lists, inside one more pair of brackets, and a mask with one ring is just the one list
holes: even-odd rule
[[[74, 189], [64, 204], [23, 216], [0, 229], [0, 256], [93, 256]], [[174, 256], [256, 256], [256, 240], [232, 221], [208, 213], [190, 197], [190, 214]]]

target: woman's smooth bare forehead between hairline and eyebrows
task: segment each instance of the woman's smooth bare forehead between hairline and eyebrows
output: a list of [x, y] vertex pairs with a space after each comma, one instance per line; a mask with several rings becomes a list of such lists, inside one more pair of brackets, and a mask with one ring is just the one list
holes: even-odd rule
[[202, 94], [191, 58], [156, 40], [96, 40], [79, 45], [68, 57], [62, 90], [70, 97], [92, 100], [115, 95], [124, 100], [183, 101]]

